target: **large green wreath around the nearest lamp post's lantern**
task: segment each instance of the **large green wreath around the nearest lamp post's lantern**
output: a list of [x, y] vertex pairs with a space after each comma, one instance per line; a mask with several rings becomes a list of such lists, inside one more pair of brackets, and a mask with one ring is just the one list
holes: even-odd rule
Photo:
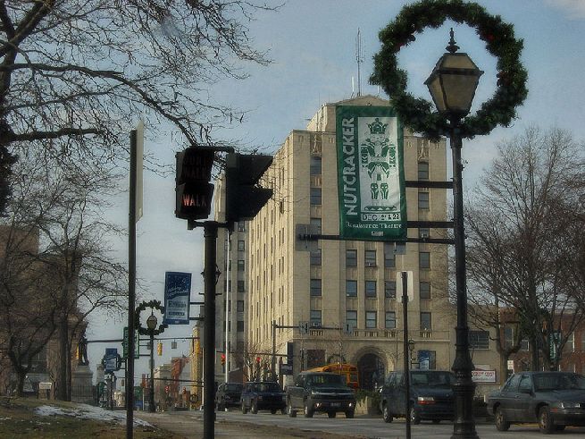
[[475, 28], [486, 42], [489, 54], [497, 57], [497, 89], [475, 115], [465, 117], [459, 132], [464, 138], [489, 134], [497, 125], [508, 126], [516, 117], [517, 106], [528, 95], [528, 73], [520, 63], [522, 39], [514, 38], [513, 25], [490, 15], [476, 3], [462, 0], [422, 0], [403, 7], [395, 21], [380, 30], [380, 52], [374, 55], [370, 82], [380, 85], [390, 97], [406, 126], [437, 140], [453, 128], [444, 115], [432, 111], [433, 105], [406, 92], [407, 74], [398, 68], [397, 53], [427, 27], [439, 28], [447, 19]]

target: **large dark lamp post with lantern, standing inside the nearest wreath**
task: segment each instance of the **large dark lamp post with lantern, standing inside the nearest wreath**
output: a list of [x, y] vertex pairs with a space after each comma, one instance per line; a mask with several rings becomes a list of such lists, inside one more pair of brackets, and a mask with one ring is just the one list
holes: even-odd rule
[[475, 384], [472, 381], [473, 362], [469, 352], [467, 326], [467, 286], [465, 280], [465, 231], [463, 201], [462, 141], [459, 130], [461, 119], [469, 113], [472, 100], [483, 72], [464, 53], [455, 53], [453, 29], [450, 32], [447, 53], [443, 55], [430, 77], [424, 83], [439, 113], [450, 123], [448, 133], [453, 157], [453, 215], [455, 233], [455, 290], [457, 298], [457, 325], [455, 326], [455, 421], [452, 439], [477, 438], [472, 414]]

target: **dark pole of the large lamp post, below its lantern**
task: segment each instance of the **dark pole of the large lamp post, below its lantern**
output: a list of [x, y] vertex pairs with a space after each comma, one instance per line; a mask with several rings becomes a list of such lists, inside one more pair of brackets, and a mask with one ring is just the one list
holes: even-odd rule
[[452, 439], [475, 439], [473, 420], [472, 381], [473, 362], [469, 352], [469, 327], [467, 326], [467, 285], [465, 280], [465, 230], [463, 197], [463, 163], [461, 161], [462, 141], [457, 129], [458, 121], [451, 121], [451, 153], [453, 157], [453, 215], [455, 233], [455, 290], [457, 297], [457, 325], [455, 326], [455, 420]]

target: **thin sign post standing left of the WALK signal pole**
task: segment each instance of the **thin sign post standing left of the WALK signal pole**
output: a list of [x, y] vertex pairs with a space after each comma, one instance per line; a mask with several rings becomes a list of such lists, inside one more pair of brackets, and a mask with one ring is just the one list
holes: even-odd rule
[[134, 427], [134, 309], [136, 308], [136, 130], [130, 131], [130, 207], [128, 212], [128, 358], [126, 359], [126, 439]]

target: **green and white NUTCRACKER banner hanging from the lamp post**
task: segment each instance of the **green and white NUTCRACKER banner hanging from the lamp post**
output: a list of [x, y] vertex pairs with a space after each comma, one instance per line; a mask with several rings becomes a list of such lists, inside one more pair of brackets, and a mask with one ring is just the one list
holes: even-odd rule
[[405, 241], [402, 124], [389, 106], [338, 106], [339, 235]]

